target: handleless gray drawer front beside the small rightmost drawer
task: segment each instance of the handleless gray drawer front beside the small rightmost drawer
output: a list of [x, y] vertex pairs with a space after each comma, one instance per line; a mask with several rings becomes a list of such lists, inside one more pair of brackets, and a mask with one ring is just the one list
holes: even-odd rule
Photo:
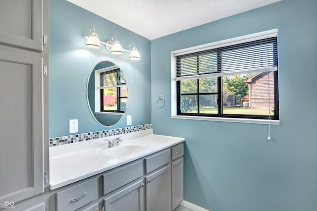
[[158, 154], [145, 158], [145, 173], [150, 173], [151, 171], [163, 166], [170, 161], [170, 149], [159, 152]]

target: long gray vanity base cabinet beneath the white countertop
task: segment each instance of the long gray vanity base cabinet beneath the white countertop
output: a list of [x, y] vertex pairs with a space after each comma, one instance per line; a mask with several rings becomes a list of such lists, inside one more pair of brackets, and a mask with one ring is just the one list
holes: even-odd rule
[[171, 211], [183, 199], [182, 173], [180, 144], [51, 191], [49, 211]]

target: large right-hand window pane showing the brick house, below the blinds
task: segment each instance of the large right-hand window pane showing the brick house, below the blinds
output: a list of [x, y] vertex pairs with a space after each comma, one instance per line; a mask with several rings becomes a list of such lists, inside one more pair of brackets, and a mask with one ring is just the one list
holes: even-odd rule
[[274, 115], [274, 72], [223, 77], [223, 114]]

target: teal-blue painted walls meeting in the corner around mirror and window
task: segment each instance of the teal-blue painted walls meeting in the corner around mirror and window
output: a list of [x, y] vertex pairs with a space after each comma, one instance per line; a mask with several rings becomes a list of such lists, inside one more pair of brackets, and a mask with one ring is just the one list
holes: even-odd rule
[[[317, 1], [282, 0], [149, 41], [66, 0], [50, 0], [50, 137], [105, 130], [86, 102], [89, 72], [117, 64], [128, 83], [133, 125], [186, 138], [185, 200], [211, 211], [317, 210]], [[85, 47], [90, 27], [101, 40], [134, 42], [140, 61]], [[267, 125], [170, 118], [170, 52], [278, 28], [280, 119]], [[151, 82], [150, 82], [151, 80]], [[151, 90], [152, 89], [152, 90]], [[166, 105], [155, 105], [163, 95]], [[152, 105], [152, 107], [151, 107]], [[151, 112], [152, 111], [152, 112]], [[125, 116], [113, 128], [126, 125]]]

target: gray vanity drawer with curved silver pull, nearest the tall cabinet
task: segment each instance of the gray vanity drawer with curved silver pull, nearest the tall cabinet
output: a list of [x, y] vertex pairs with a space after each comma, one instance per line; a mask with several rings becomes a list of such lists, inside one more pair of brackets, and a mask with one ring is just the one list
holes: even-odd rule
[[81, 208], [98, 198], [97, 178], [83, 182], [56, 193], [58, 211], [71, 211]]

